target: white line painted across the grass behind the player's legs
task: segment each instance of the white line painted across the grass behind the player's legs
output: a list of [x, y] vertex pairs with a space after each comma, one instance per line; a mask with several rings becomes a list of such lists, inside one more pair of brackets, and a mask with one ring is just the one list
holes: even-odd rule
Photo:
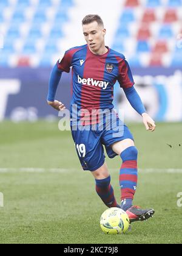
[[[35, 172], [35, 173], [42, 173], [42, 172], [73, 172], [73, 171], [80, 171], [81, 168], [72, 169], [72, 168], [0, 168], [0, 173], [8, 173], [8, 172]], [[117, 171], [117, 169], [110, 169], [110, 171]], [[157, 169], [157, 168], [146, 168], [146, 169], [138, 169], [139, 172], [145, 173], [180, 173], [182, 174], [182, 169]]]

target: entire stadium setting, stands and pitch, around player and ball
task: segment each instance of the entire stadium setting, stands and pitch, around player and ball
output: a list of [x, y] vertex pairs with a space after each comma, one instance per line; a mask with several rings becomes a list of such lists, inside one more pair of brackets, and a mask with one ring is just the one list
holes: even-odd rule
[[[0, 243], [182, 243], [182, 0], [0, 0], [0, 10]], [[58, 130], [58, 113], [46, 103], [52, 66], [85, 44], [88, 13], [103, 18], [106, 44], [126, 55], [157, 121], [146, 132], [115, 85], [115, 108], [124, 109], [140, 152], [135, 204], [156, 210], [122, 237], [101, 233], [106, 208], [81, 171], [70, 132]], [[69, 107], [70, 74], [57, 98]], [[120, 160], [107, 165], [119, 199]]]

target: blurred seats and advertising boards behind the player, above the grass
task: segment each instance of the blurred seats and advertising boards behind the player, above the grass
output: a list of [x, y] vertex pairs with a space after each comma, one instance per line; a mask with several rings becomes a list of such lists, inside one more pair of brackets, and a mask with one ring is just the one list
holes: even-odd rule
[[[126, 56], [149, 114], [181, 121], [181, 0], [1, 0], [0, 9], [0, 120], [56, 115], [45, 105], [50, 70], [67, 49], [85, 44], [81, 20], [98, 13], [106, 44]], [[64, 74], [57, 94], [67, 107], [69, 81]], [[115, 95], [115, 108], [123, 108], [127, 120], [140, 119], [118, 85]]]

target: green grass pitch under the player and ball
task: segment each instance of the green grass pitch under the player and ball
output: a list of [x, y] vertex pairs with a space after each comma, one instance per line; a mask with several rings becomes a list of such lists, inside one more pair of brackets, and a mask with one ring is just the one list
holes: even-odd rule
[[[70, 132], [59, 131], [58, 122], [0, 123], [0, 243], [182, 243], [182, 124], [157, 123], [153, 133], [128, 126], [139, 151], [134, 203], [156, 213], [126, 235], [105, 235], [99, 218], [106, 206], [81, 169]], [[106, 162], [120, 202], [120, 157]]]

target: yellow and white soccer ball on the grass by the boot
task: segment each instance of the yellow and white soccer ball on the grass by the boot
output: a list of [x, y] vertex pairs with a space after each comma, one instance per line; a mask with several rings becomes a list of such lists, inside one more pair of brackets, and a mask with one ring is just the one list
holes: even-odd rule
[[112, 207], [101, 215], [101, 229], [107, 234], [122, 234], [129, 228], [129, 216], [121, 208]]

